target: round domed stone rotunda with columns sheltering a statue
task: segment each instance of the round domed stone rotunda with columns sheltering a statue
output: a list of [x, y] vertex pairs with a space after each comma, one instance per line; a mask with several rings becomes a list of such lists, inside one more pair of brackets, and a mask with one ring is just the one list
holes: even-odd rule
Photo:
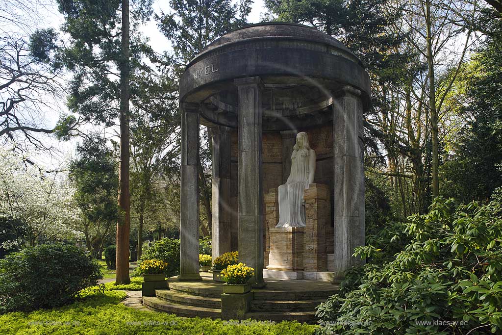
[[[359, 262], [351, 254], [364, 244], [363, 112], [370, 105], [370, 82], [358, 58], [311, 27], [246, 26], [210, 43], [188, 64], [179, 99], [177, 282], [203, 277], [197, 164], [204, 125], [213, 153], [213, 259], [238, 251], [239, 261], [255, 268], [256, 292], [281, 279], [281, 285], [312, 280], [327, 282], [319, 283], [328, 285], [325, 292], [336, 289], [331, 283]], [[299, 133], [305, 149], [295, 146]], [[308, 187], [295, 188], [291, 183], [300, 179], [290, 178], [297, 173], [292, 173], [292, 156], [302, 149], [310, 165], [302, 165], [308, 176], [300, 179]], [[288, 192], [300, 192], [301, 198]], [[286, 212], [288, 206], [295, 218], [279, 225], [280, 215], [286, 215], [279, 209]]]

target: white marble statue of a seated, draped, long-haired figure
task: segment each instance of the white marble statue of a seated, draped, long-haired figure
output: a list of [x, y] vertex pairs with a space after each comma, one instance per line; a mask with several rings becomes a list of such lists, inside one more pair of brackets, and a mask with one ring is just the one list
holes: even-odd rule
[[291, 174], [279, 186], [279, 224], [276, 228], [305, 227], [303, 191], [314, 182], [315, 151], [310, 149], [307, 133], [296, 135], [291, 155]]

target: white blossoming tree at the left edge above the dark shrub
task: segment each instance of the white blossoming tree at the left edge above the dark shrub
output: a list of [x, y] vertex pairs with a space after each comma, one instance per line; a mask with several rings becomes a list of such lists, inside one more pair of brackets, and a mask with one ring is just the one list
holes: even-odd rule
[[[75, 227], [80, 210], [65, 173], [47, 172], [28, 155], [0, 147], [0, 218], [28, 227], [30, 245], [46, 240], [78, 237]], [[6, 247], [20, 241], [6, 241]]]

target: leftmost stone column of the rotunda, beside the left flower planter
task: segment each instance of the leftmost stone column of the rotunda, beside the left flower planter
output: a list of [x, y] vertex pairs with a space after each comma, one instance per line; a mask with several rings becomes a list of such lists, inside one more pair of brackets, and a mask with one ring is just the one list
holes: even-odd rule
[[199, 104], [181, 106], [181, 220], [178, 280], [199, 275]]

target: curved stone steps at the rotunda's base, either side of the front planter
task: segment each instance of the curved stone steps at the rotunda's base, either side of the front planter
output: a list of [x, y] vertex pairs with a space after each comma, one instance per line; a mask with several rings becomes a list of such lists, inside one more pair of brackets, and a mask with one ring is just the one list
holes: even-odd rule
[[[179, 316], [225, 318], [221, 314], [222, 283], [213, 281], [210, 273], [200, 275], [202, 281], [180, 282], [177, 277], [169, 278], [167, 287], [157, 289], [155, 297], [143, 297], [143, 305]], [[311, 280], [266, 279], [265, 282], [265, 288], [252, 290], [253, 301], [244, 319], [315, 323], [317, 305], [338, 289], [331, 283]]]

